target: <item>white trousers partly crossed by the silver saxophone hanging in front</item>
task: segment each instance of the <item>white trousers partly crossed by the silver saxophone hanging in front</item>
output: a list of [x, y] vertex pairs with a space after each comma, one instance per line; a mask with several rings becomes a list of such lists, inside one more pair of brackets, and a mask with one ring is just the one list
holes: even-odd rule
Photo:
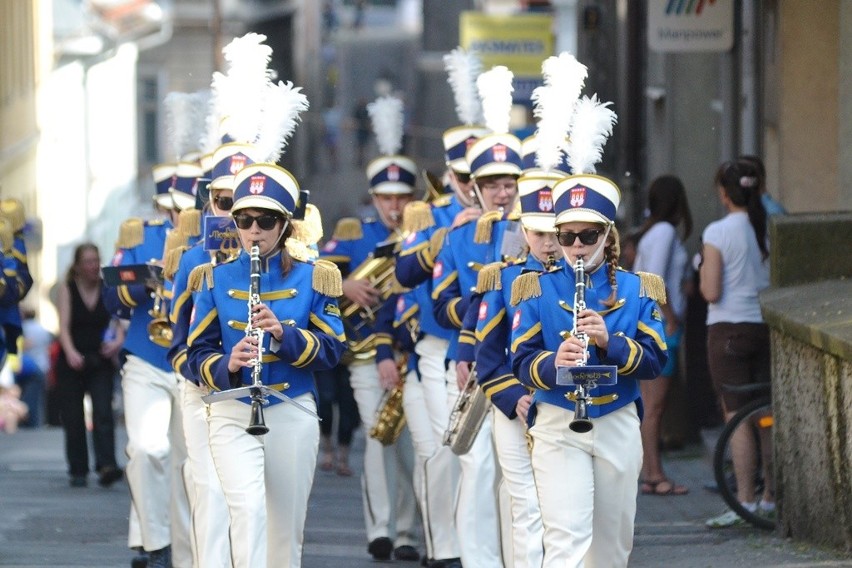
[[[447, 369], [449, 408], [458, 398], [456, 364]], [[500, 517], [497, 512], [499, 482], [494, 442], [491, 437], [493, 407], [482, 423], [470, 451], [459, 456], [461, 477], [456, 499], [456, 531], [464, 568], [503, 566], [500, 544]]]

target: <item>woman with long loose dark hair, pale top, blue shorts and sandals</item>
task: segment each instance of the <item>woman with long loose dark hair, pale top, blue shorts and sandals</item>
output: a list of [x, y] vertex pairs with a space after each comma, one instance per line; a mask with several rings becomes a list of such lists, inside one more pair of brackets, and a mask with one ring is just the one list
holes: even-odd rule
[[633, 270], [662, 276], [666, 302], [660, 305], [665, 323], [669, 360], [656, 381], [642, 381], [639, 390], [645, 406], [642, 419], [642, 476], [640, 491], [645, 495], [684, 495], [689, 490], [677, 485], [663, 471], [660, 457], [660, 423], [672, 377], [678, 369], [678, 349], [686, 319], [688, 255], [683, 241], [692, 232], [692, 215], [686, 190], [680, 179], [660, 176], [648, 188], [648, 218], [639, 229], [639, 244]]

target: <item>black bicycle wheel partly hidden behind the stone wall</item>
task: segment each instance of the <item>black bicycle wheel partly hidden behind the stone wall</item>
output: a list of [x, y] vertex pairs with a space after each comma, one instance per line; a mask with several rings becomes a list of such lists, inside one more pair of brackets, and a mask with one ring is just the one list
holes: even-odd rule
[[775, 510], [767, 512], [760, 507], [749, 511], [737, 499], [736, 478], [734, 476], [733, 460], [731, 459], [731, 439], [734, 435], [749, 436], [755, 443], [755, 495], [759, 499], [765, 484], [771, 480], [765, 479], [764, 470], [772, 475], [772, 401], [762, 398], [743, 406], [722, 429], [713, 455], [713, 473], [719, 494], [725, 503], [740, 517], [752, 525], [773, 530], [775, 528]]

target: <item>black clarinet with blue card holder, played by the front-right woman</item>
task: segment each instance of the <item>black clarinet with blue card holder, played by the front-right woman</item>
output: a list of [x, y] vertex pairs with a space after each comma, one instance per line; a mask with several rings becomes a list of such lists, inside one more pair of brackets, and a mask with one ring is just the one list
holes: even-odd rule
[[[582, 358], [574, 367], [560, 366], [556, 368], [557, 385], [575, 385], [574, 419], [568, 425], [572, 431], [585, 434], [594, 426], [589, 419], [589, 406], [594, 403], [590, 391], [599, 385], [614, 385], [617, 380], [617, 368], [610, 365], [588, 365], [589, 337], [585, 332], [578, 331], [577, 320], [579, 313], [586, 309], [586, 270], [583, 259], [578, 258], [574, 263], [574, 329], [571, 335], [583, 342]], [[564, 337], [564, 336], [563, 336]], [[569, 400], [572, 397], [569, 396]]]

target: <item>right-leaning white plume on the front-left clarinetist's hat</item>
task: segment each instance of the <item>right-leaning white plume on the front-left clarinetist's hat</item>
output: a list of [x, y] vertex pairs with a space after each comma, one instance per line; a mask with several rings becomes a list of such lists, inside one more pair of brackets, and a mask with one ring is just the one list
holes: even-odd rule
[[263, 107], [263, 125], [255, 146], [264, 162], [275, 163], [296, 129], [299, 114], [308, 109], [308, 98], [290, 81], [269, 85]]

